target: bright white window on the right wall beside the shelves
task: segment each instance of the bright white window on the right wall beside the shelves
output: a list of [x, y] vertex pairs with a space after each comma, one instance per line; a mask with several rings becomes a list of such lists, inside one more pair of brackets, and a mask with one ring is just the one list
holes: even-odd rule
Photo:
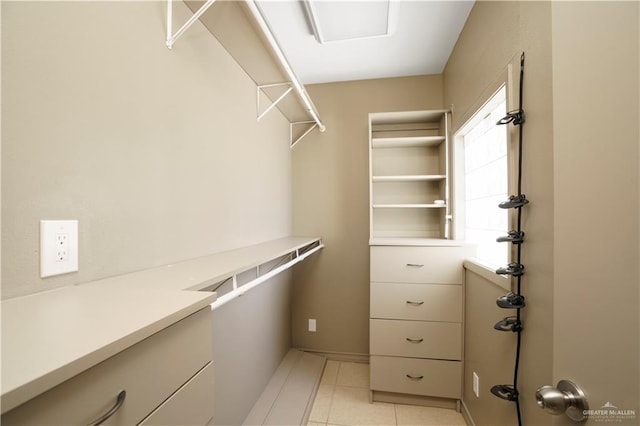
[[[503, 86], [471, 118], [456, 137], [458, 222], [465, 241], [476, 246], [476, 258], [495, 269], [509, 259], [509, 244], [496, 238], [509, 229], [508, 210], [498, 204], [508, 198], [507, 126], [496, 122], [506, 115]], [[462, 157], [462, 158], [460, 158]]]

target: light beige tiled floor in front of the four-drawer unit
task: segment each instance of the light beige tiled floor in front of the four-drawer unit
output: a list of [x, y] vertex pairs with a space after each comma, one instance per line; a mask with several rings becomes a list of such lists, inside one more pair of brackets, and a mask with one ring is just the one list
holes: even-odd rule
[[369, 365], [327, 361], [309, 426], [465, 426], [446, 408], [369, 402]]

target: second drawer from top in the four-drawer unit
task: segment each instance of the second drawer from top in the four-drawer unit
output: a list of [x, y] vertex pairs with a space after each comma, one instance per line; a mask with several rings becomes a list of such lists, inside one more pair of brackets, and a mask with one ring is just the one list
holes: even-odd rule
[[462, 286], [372, 282], [370, 316], [462, 322]]

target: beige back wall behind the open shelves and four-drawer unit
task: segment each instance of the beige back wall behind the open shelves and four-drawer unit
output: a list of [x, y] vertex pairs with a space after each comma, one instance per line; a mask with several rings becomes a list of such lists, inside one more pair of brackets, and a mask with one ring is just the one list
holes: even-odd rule
[[[293, 153], [294, 233], [326, 247], [294, 270], [294, 347], [369, 353], [368, 113], [442, 108], [440, 76], [307, 88], [325, 133]], [[316, 333], [307, 319], [317, 320]]]

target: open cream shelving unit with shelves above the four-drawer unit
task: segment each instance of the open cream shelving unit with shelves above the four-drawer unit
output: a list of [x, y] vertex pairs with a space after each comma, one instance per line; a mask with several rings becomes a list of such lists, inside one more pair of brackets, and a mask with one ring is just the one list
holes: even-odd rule
[[448, 112], [369, 114], [370, 243], [449, 239]]

